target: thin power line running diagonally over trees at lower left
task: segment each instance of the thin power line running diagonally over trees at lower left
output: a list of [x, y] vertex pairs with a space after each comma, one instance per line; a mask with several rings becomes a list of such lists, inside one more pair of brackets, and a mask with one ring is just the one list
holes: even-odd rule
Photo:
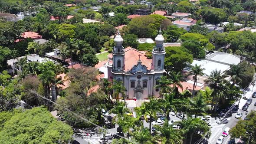
[[[77, 116], [78, 118], [81, 118], [82, 120], [84, 120], [84, 121], [86, 121], [86, 122], [89, 122], [90, 124], [94, 125], [96, 128], [101, 128], [101, 129], [104, 130], [104, 131], [108, 131], [107, 129], [105, 129], [105, 128], [99, 126], [98, 124], [93, 123], [92, 121], [89, 121], [89, 120], [83, 118], [82, 116], [76, 114], [75, 112], [69, 110], [68, 108], [66, 108], [66, 107], [64, 107], [64, 106], [62, 106], [62, 105], [59, 105], [59, 104], [57, 104], [56, 102], [54, 102], [54, 101], [52, 101], [52, 100], [50, 100], [50, 99], [48, 99], [48, 98], [43, 97], [42, 95], [39, 95], [37, 92], [32, 91], [32, 90], [30, 90], [30, 89], [29, 89], [29, 91], [30, 91], [30, 92], [33, 92], [34, 94], [36, 94], [36, 95], [39, 96], [40, 98], [45, 99], [46, 101], [50, 101], [50, 102], [52, 102], [53, 104], [58, 105], [58, 106], [60, 106], [60, 107], [62, 107], [62, 108], [64, 108], [64, 109], [66, 109], [67, 111], [71, 112], [73, 115]], [[108, 132], [114, 135], [114, 133], [112, 133], [111, 131], [108, 131]], [[132, 143], [134, 143], [134, 144], [137, 144], [136, 142], [131, 141], [131, 140], [129, 140], [128, 138], [125, 138], [125, 137], [123, 137], [123, 136], [121, 136], [121, 135], [118, 135], [118, 137], [124, 138], [124, 139], [126, 139], [127, 141], [130, 141], [130, 142], [132, 142]]]

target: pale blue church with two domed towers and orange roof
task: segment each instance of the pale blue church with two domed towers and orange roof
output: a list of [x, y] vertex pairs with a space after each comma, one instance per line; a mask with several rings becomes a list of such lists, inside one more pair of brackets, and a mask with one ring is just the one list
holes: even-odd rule
[[155, 38], [156, 46], [152, 49], [152, 59], [145, 56], [145, 51], [138, 51], [131, 47], [124, 49], [122, 46], [123, 39], [119, 32], [114, 41], [112, 56], [109, 56], [110, 60], [106, 64], [108, 80], [122, 81], [127, 90], [125, 92], [127, 99], [159, 97], [160, 90], [155, 88], [155, 85], [158, 85], [158, 79], [165, 72], [164, 37], [161, 30]]

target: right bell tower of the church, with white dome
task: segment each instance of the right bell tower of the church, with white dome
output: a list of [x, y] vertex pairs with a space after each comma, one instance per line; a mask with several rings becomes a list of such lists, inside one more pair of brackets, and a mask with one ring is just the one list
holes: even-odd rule
[[162, 35], [161, 28], [158, 36], [154, 40], [156, 46], [154, 46], [152, 50], [152, 69], [154, 69], [154, 71], [164, 71], [165, 49], [163, 46], [164, 36]]

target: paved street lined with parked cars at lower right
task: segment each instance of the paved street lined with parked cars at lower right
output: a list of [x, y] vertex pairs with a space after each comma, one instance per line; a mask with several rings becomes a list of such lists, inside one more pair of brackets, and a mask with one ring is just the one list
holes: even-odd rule
[[[253, 95], [253, 92], [256, 91], [256, 87], [253, 88], [253, 86], [250, 86], [248, 91], [246, 92], [246, 98], [252, 98], [251, 96]], [[252, 98], [253, 99], [253, 102], [249, 105], [249, 112], [250, 111], [253, 111], [253, 110], [256, 110], [256, 106], [254, 106], [254, 103], [256, 102], [256, 98]], [[240, 104], [239, 104], [239, 111], [238, 112], [242, 112], [243, 113], [243, 116], [242, 116], [242, 119], [244, 119], [246, 117], [245, 115], [245, 112], [246, 111], [243, 111], [242, 108], [243, 108], [243, 105], [246, 103], [246, 100], [241, 98], [240, 100]], [[236, 101], [236, 105], [238, 105], [238, 101]], [[229, 127], [229, 128], [233, 128], [237, 121], [239, 121], [239, 119], [235, 118], [235, 115], [236, 113], [233, 113], [232, 117], [231, 118], [227, 118], [229, 120], [229, 123], [228, 124], [224, 124], [224, 127], [213, 127], [211, 129], [211, 136], [209, 138], [209, 144], [216, 144], [217, 142], [217, 139], [221, 136], [223, 130], [226, 128], [226, 127]], [[216, 121], [214, 121], [214, 125], [216, 125]], [[213, 125], [213, 123], [212, 123]], [[219, 125], [219, 124], [217, 124]], [[220, 124], [222, 125], [222, 124]], [[228, 142], [230, 141], [230, 135], [228, 135], [227, 137], [224, 138], [224, 141], [223, 141], [223, 144], [227, 144]]]

